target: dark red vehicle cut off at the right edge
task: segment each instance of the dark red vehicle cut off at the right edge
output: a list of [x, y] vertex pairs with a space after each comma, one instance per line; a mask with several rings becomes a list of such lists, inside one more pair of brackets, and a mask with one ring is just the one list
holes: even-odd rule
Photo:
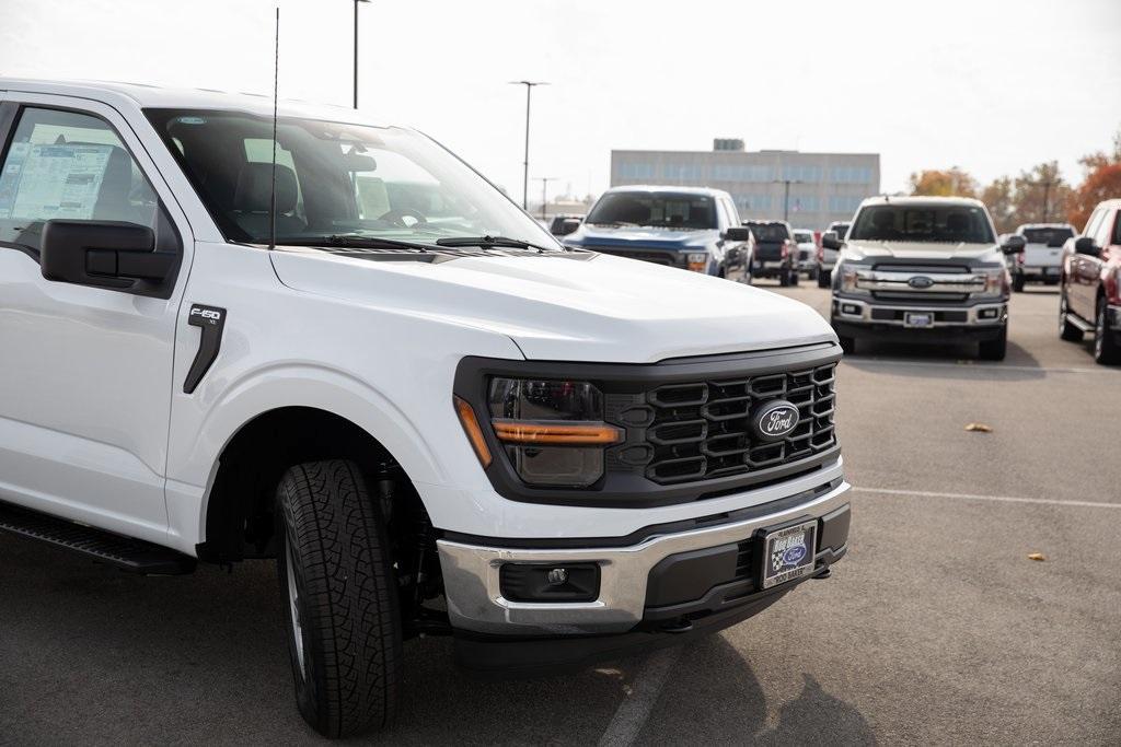
[[1121, 199], [1097, 205], [1082, 235], [1063, 246], [1058, 330], [1094, 335], [1094, 361], [1121, 363]]

